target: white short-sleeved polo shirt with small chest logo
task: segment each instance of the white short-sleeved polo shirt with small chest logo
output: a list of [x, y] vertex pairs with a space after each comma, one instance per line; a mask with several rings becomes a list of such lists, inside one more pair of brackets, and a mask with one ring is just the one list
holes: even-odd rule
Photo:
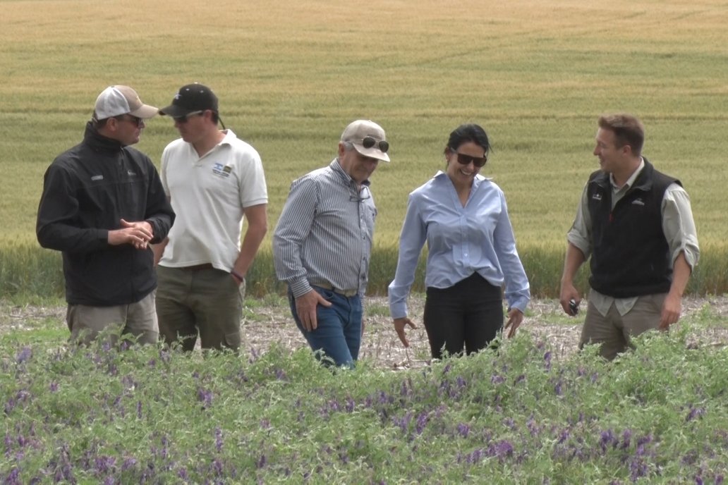
[[203, 156], [181, 138], [162, 152], [162, 186], [176, 217], [159, 265], [211, 263], [232, 270], [240, 253], [243, 208], [268, 202], [258, 152], [232, 130], [224, 133]]

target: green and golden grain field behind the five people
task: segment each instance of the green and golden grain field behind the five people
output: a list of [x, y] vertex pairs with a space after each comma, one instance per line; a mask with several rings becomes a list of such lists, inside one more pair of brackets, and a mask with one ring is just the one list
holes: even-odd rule
[[[344, 126], [387, 130], [371, 290], [394, 274], [407, 194], [443, 168], [449, 132], [483, 125], [483, 174], [506, 193], [534, 294], [558, 288], [564, 235], [601, 113], [646, 124], [644, 154], [692, 198], [703, 260], [692, 292], [728, 288], [728, 2], [704, 1], [1, 1], [0, 289], [60, 294], [60, 257], [39, 249], [45, 169], [81, 140], [95, 97], [135, 87], [170, 103], [213, 88], [226, 126], [261, 153], [269, 235], [291, 180], [331, 161]], [[177, 137], [149, 122], [158, 164]], [[270, 238], [249, 288], [274, 289]], [[582, 273], [584, 273], [582, 271]], [[582, 274], [583, 276], [583, 274]], [[583, 281], [583, 280], [582, 280]]]

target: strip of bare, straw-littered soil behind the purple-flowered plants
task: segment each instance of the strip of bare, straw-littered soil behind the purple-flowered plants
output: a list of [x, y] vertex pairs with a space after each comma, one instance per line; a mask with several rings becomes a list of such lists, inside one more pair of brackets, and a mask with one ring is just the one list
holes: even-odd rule
[[[392, 327], [385, 297], [369, 297], [365, 302], [365, 333], [360, 359], [368, 359], [384, 369], [425, 366], [430, 361], [430, 346], [422, 325], [424, 299], [411, 297], [411, 317], [418, 328], [408, 331], [409, 348], [404, 348]], [[585, 308], [585, 302], [582, 302]], [[276, 343], [296, 350], [306, 342], [290, 316], [287, 305], [267, 305], [246, 311], [242, 322], [242, 350], [265, 352]], [[556, 300], [532, 300], [518, 332], [526, 332], [544, 341], [555, 358], [565, 358], [577, 351], [583, 314], [576, 318], [563, 315]], [[687, 297], [683, 300], [683, 319], [707, 313], [711, 325], [701, 325], [691, 334], [695, 345], [728, 347], [728, 297]], [[0, 303], [0, 332], [28, 332], [47, 319], [58, 321], [66, 329], [66, 308], [60, 306], [12, 306]]]

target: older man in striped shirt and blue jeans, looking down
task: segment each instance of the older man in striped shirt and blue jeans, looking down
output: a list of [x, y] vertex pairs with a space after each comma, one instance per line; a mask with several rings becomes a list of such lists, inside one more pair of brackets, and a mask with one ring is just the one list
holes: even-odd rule
[[293, 319], [327, 364], [352, 366], [359, 355], [376, 218], [369, 177], [388, 150], [379, 124], [353, 121], [336, 159], [293, 181], [273, 236]]

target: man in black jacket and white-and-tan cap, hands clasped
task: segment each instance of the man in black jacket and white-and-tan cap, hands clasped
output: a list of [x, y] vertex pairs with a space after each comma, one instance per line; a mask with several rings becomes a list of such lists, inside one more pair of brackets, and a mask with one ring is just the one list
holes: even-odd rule
[[[38, 207], [41, 246], [63, 254], [71, 339], [131, 334], [159, 338], [154, 254], [175, 215], [154, 164], [133, 145], [157, 114], [134, 89], [111, 86], [96, 100], [84, 140], [48, 167]], [[118, 328], [116, 328], [118, 327]]]

